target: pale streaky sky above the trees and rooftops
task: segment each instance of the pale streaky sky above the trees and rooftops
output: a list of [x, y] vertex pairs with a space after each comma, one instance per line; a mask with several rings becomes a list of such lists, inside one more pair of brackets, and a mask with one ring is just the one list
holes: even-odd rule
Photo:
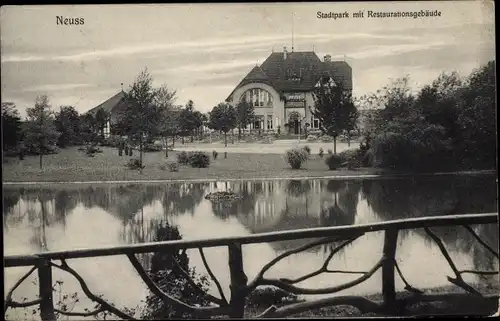
[[[361, 96], [409, 75], [414, 89], [442, 72], [467, 76], [495, 58], [493, 2], [325, 2], [2, 6], [2, 102], [21, 115], [37, 95], [85, 112], [143, 70], [207, 112], [274, 50], [347, 61]], [[364, 10], [364, 18], [352, 14]], [[440, 17], [369, 18], [368, 11], [438, 10]], [[319, 19], [317, 12], [348, 12]], [[58, 25], [57, 16], [83, 18]], [[293, 23], [292, 23], [293, 21]], [[293, 28], [292, 28], [293, 25]]]

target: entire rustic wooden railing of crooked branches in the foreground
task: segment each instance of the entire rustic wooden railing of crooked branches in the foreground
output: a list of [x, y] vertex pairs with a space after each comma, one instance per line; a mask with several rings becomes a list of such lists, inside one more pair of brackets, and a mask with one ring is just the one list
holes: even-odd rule
[[[58, 251], [58, 252], [45, 252], [36, 255], [20, 255], [20, 256], [7, 256], [4, 257], [5, 268], [31, 266], [30, 271], [18, 280], [12, 289], [7, 293], [4, 305], [4, 314], [8, 308], [25, 308], [30, 306], [39, 305], [40, 315], [42, 320], [55, 320], [56, 314], [72, 315], [72, 316], [92, 316], [97, 315], [102, 311], [107, 311], [120, 318], [127, 320], [134, 320], [132, 315], [117, 309], [114, 305], [108, 303], [101, 296], [94, 294], [83, 278], [68, 265], [67, 260], [77, 258], [95, 258], [112, 255], [125, 255], [130, 260], [132, 266], [135, 268], [141, 279], [148, 286], [150, 291], [158, 296], [166, 305], [174, 306], [179, 311], [190, 313], [193, 316], [212, 317], [212, 316], [229, 316], [231, 318], [242, 318], [245, 314], [246, 298], [259, 286], [274, 286], [284, 291], [293, 294], [330, 294], [336, 293], [357, 284], [360, 284], [369, 279], [376, 271], [382, 269], [382, 302], [375, 302], [361, 296], [333, 296], [319, 300], [306, 301], [295, 303], [291, 305], [284, 305], [281, 307], [270, 306], [257, 317], [286, 317], [289, 315], [301, 313], [307, 310], [323, 308], [335, 305], [350, 305], [360, 311], [380, 313], [383, 315], [401, 315], [406, 311], [408, 305], [425, 302], [425, 301], [440, 301], [448, 297], [467, 296], [468, 300], [478, 302], [478, 304], [497, 304], [498, 295], [483, 295], [471, 285], [466, 283], [462, 278], [465, 273], [475, 273], [479, 275], [495, 275], [498, 271], [475, 271], [475, 270], [459, 270], [452, 258], [450, 257], [444, 243], [441, 239], [433, 233], [431, 228], [443, 226], [462, 226], [468, 233], [470, 233], [477, 242], [481, 244], [488, 252], [498, 259], [498, 251], [493, 249], [491, 245], [484, 242], [479, 235], [470, 227], [470, 225], [479, 224], [496, 224], [498, 222], [497, 213], [487, 214], [467, 214], [467, 215], [449, 215], [439, 217], [423, 217], [414, 219], [395, 220], [382, 223], [364, 224], [356, 226], [338, 226], [338, 227], [325, 227], [315, 229], [293, 230], [274, 233], [254, 234], [243, 237], [225, 237], [216, 239], [204, 240], [179, 240], [167, 242], [155, 242], [145, 244], [133, 244], [127, 246], [116, 246], [98, 249], [78, 249], [72, 251]], [[442, 255], [450, 265], [454, 277], [448, 277], [448, 281], [453, 285], [461, 288], [464, 293], [441, 293], [441, 294], [426, 294], [411, 286], [404, 278], [397, 261], [395, 254], [397, 249], [398, 232], [407, 229], [424, 229], [425, 233], [436, 243]], [[328, 264], [332, 257], [339, 252], [340, 249], [352, 243], [362, 235], [371, 232], [384, 231], [384, 245], [383, 254], [379, 261], [369, 271], [335, 271], [328, 268]], [[242, 247], [245, 244], [256, 244], [265, 242], [276, 242], [285, 240], [296, 240], [305, 238], [315, 238], [314, 242], [301, 246], [299, 248], [290, 250], [280, 254], [269, 263], [264, 265], [259, 273], [252, 280], [248, 280], [243, 268], [243, 253]], [[319, 238], [319, 239], [318, 239]], [[316, 271], [307, 275], [298, 277], [296, 279], [271, 279], [264, 276], [276, 263], [302, 251], [306, 251], [316, 246], [331, 244], [333, 242], [342, 242], [336, 248], [332, 248], [324, 264]], [[203, 249], [210, 247], [227, 247], [229, 258], [230, 270], [230, 299], [227, 300], [222, 291], [222, 287], [217, 278], [212, 273], [207, 260], [204, 255]], [[152, 280], [148, 272], [144, 270], [136, 254], [151, 253], [161, 251], [179, 251], [187, 249], [198, 249], [203, 260], [203, 263], [210, 275], [212, 281], [217, 286], [220, 298], [207, 295], [207, 298], [213, 302], [212, 306], [198, 307], [189, 305], [175, 298], [158, 287]], [[60, 261], [56, 264], [55, 261]], [[58, 310], [54, 307], [52, 298], [52, 268], [57, 268], [66, 271], [73, 275], [79, 282], [82, 291], [85, 295], [97, 304], [97, 309], [88, 312], [65, 312]], [[12, 299], [14, 290], [24, 281], [27, 277], [38, 270], [39, 277], [39, 298], [33, 301], [16, 302]], [[361, 276], [353, 281], [339, 284], [336, 286], [325, 287], [321, 289], [310, 289], [299, 287], [295, 284], [317, 276], [322, 273], [357, 273]], [[408, 296], [403, 299], [398, 298], [395, 289], [395, 276], [399, 275], [405, 284], [405, 289], [408, 291]], [[186, 278], [189, 275], [186, 273]], [[191, 280], [192, 281], [192, 280]], [[195, 282], [192, 282], [195, 284]]]

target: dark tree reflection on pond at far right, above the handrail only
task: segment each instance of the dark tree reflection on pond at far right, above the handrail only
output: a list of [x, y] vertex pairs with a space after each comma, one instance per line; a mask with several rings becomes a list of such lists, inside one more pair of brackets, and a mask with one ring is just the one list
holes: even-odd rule
[[363, 181], [368, 205], [383, 219], [496, 212], [492, 176]]

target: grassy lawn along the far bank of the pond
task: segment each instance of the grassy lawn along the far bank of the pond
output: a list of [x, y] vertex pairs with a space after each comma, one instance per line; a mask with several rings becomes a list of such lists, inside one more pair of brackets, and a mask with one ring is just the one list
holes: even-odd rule
[[118, 156], [116, 148], [101, 147], [103, 152], [88, 157], [76, 147], [62, 149], [59, 154], [45, 155], [43, 169], [39, 168], [38, 156], [27, 156], [24, 160], [6, 158], [3, 163], [4, 182], [70, 182], [70, 181], [122, 181], [122, 180], [182, 180], [182, 179], [239, 179], [239, 178], [295, 178], [320, 176], [346, 176], [377, 174], [380, 170], [363, 168], [356, 170], [328, 170], [324, 160], [318, 155], [311, 159], [303, 169], [292, 170], [280, 154], [248, 154], [219, 152], [216, 160], [212, 159], [209, 168], [191, 168], [180, 166], [178, 172], [162, 170], [162, 165], [177, 161], [178, 152], [144, 153], [142, 173], [130, 170], [125, 164], [134, 155]]

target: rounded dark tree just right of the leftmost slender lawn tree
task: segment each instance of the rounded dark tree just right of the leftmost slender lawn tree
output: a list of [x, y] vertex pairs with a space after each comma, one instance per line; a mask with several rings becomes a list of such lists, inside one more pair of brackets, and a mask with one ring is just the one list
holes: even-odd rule
[[61, 106], [55, 115], [56, 130], [60, 133], [57, 145], [61, 148], [80, 143], [80, 116], [72, 106]]

